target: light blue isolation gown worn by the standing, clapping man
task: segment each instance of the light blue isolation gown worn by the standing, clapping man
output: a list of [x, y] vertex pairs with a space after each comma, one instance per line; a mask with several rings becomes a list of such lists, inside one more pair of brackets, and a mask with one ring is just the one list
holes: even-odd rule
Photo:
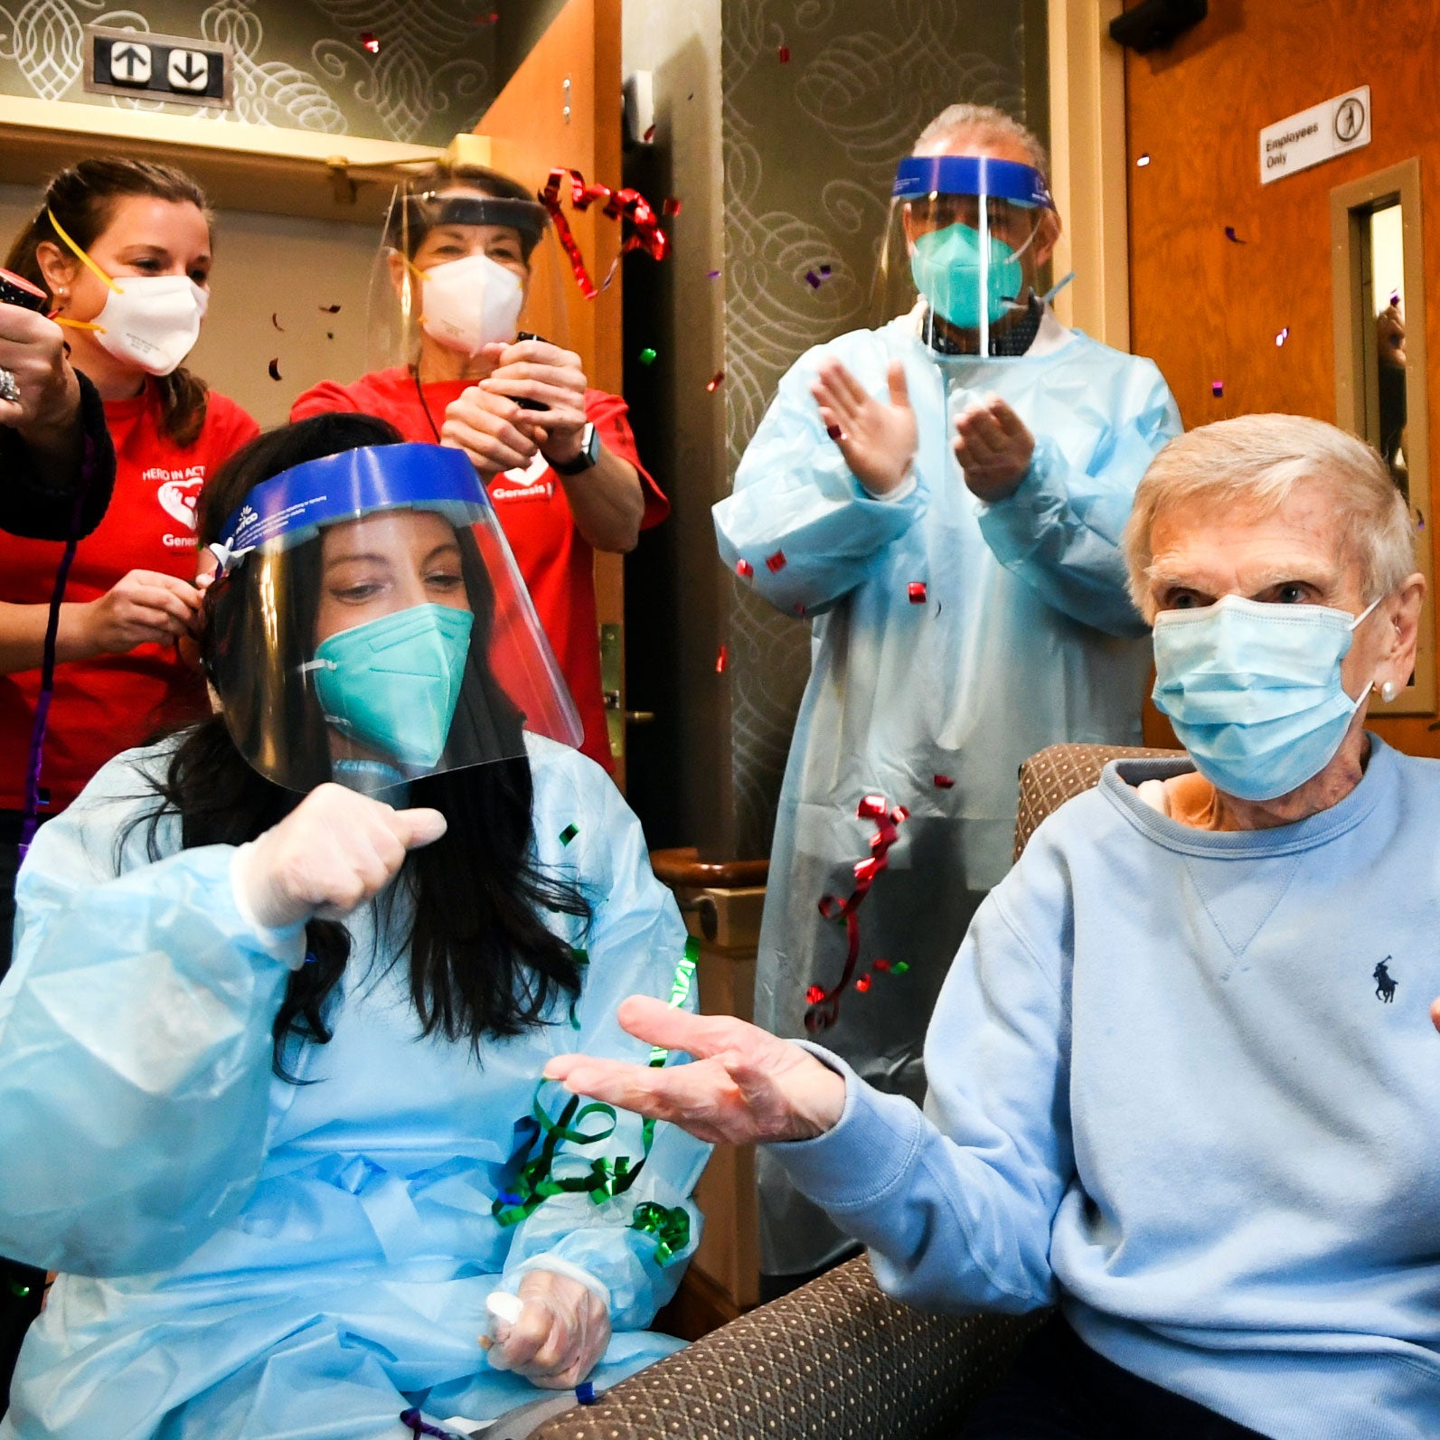
[[[871, 1084], [920, 1102], [940, 982], [1009, 868], [1021, 763], [1061, 740], [1139, 743], [1151, 647], [1119, 540], [1140, 475], [1181, 420], [1149, 360], [1068, 331], [1048, 310], [1012, 359], [936, 354], [917, 321], [804, 354], [714, 520], [740, 583], [814, 622], [770, 855], [756, 1024], [804, 1035], [809, 986], [840, 982], [845, 927], [818, 906], [855, 888], [876, 834], [855, 808], [883, 795], [910, 818], [857, 910], [860, 972], [874, 959], [909, 971], [876, 972], [867, 992], [847, 992], [835, 1027], [815, 1038]], [[880, 397], [888, 361], [904, 364], [919, 428], [909, 492], [873, 498], [825, 433], [811, 384], [831, 357]], [[953, 454], [955, 416], [986, 393], [1035, 436], [1020, 488], [994, 505], [966, 488]], [[759, 1176], [763, 1270], [811, 1270], [844, 1248], [765, 1151]]]

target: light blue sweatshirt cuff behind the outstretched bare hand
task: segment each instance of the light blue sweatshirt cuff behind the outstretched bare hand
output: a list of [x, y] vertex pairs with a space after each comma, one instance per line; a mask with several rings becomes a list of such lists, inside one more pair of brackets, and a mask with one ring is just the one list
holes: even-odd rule
[[845, 1107], [834, 1129], [812, 1140], [770, 1146], [795, 1188], [828, 1211], [864, 1210], [900, 1184], [920, 1145], [919, 1109], [865, 1084], [822, 1045], [796, 1041], [845, 1081]]

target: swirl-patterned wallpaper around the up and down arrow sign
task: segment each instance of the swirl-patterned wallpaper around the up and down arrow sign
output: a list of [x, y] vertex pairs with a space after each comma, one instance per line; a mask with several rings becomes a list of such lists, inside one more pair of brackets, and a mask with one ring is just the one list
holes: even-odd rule
[[[0, 0], [0, 94], [445, 145], [495, 94], [494, 13], [492, 0], [216, 0], [199, 14], [183, 0]], [[235, 108], [86, 95], [86, 24], [228, 42]]]

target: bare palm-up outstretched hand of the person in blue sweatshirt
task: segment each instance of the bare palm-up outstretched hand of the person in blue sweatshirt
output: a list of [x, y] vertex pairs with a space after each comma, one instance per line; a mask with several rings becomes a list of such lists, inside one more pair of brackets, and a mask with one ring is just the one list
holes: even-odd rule
[[556, 1056], [546, 1079], [710, 1142], [809, 1140], [840, 1122], [844, 1079], [756, 1025], [730, 1015], [690, 1015], [649, 995], [624, 1001], [619, 1022], [638, 1040], [683, 1050], [694, 1061], [651, 1067]]

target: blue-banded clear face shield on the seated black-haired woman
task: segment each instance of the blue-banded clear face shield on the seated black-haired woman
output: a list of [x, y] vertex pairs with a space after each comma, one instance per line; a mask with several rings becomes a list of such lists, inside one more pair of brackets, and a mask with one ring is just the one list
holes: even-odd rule
[[268, 780], [379, 793], [580, 721], [475, 468], [376, 445], [256, 485], [210, 547], [206, 670]]

